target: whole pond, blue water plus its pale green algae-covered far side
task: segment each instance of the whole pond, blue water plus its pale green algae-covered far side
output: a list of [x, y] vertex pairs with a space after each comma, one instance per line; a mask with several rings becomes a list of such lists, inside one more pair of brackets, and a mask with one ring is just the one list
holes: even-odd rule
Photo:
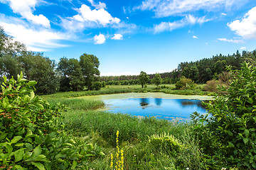
[[210, 96], [184, 96], [162, 93], [111, 94], [82, 98], [102, 100], [106, 104], [105, 110], [113, 113], [127, 113], [139, 117], [155, 116], [156, 118], [167, 120], [174, 118], [186, 120], [195, 111], [206, 113], [206, 108], [202, 106], [202, 101], [212, 100]]

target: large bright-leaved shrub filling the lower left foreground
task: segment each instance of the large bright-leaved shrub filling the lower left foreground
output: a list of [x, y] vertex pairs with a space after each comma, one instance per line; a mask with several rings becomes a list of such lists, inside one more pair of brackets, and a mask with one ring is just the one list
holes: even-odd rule
[[18, 75], [1, 85], [0, 164], [3, 169], [83, 169], [97, 146], [71, 138], [62, 130], [61, 107], [50, 107]]

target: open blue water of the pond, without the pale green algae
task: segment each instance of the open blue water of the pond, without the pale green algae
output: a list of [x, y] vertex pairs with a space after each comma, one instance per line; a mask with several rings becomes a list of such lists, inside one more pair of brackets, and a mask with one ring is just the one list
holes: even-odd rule
[[206, 108], [199, 100], [166, 99], [166, 98], [127, 98], [104, 100], [108, 111], [127, 113], [137, 116], [156, 116], [171, 120], [173, 118], [188, 119], [193, 112], [206, 113]]

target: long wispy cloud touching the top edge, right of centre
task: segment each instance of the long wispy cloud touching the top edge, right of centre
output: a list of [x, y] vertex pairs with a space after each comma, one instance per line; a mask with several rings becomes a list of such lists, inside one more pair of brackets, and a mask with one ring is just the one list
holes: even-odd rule
[[245, 4], [242, 0], [144, 0], [134, 10], [154, 11], [156, 17], [174, 16], [191, 11], [215, 11], [218, 8]]

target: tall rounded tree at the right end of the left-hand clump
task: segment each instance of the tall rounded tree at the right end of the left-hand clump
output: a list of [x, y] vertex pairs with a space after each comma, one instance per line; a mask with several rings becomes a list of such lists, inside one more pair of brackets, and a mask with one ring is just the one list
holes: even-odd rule
[[92, 90], [93, 82], [100, 80], [100, 71], [98, 69], [100, 62], [95, 55], [83, 54], [80, 56], [79, 64], [82, 68], [85, 86], [87, 86], [87, 89]]

